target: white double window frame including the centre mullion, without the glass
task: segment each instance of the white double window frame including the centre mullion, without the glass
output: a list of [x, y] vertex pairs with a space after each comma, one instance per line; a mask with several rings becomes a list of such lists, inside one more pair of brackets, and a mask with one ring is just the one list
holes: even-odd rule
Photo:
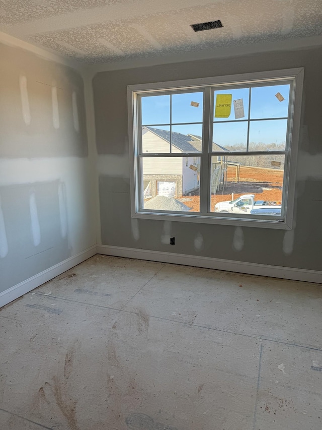
[[[198, 91], [205, 87], [209, 90], [204, 92], [204, 114], [203, 114], [203, 151], [194, 154], [178, 154], [178, 156], [200, 156], [201, 157], [201, 184], [200, 190], [203, 193], [204, 206], [210, 206], [210, 142], [212, 142], [212, 113], [211, 92], [216, 86], [223, 85], [246, 85], [249, 83], [261, 83], [262, 81], [293, 81], [289, 97], [289, 120], [288, 120], [288, 153], [285, 154], [284, 179], [283, 179], [283, 200], [282, 213], [284, 218], [268, 215], [250, 215], [247, 218], [240, 217], [238, 214], [225, 214], [218, 212], [205, 212], [200, 209], [197, 212], [175, 212], [175, 211], [156, 211], [139, 209], [140, 193], [140, 168], [139, 168], [139, 145], [140, 145], [140, 109], [138, 109], [138, 95], [152, 93], [153, 95], [162, 94], [166, 91]], [[300, 132], [300, 115], [302, 104], [302, 91], [304, 80], [304, 68], [275, 70], [269, 72], [246, 73], [241, 75], [217, 76], [212, 78], [189, 79], [170, 82], [158, 82], [152, 84], [129, 85], [127, 87], [128, 96], [128, 132], [129, 132], [129, 153], [130, 153], [130, 186], [131, 186], [131, 216], [132, 218], [157, 219], [164, 221], [182, 221], [196, 223], [223, 224], [233, 226], [251, 226], [261, 228], [277, 228], [290, 230], [293, 224], [295, 180], [296, 180], [296, 161], [298, 153], [298, 141]], [[265, 85], [265, 83], [263, 82]], [[209, 106], [208, 110], [205, 106]], [[212, 103], [213, 106], [213, 103]], [[208, 112], [208, 115], [205, 114]], [[274, 118], [272, 118], [274, 119]], [[209, 148], [209, 150], [205, 150]], [[270, 154], [267, 152], [267, 154]], [[256, 153], [255, 153], [256, 154]], [[150, 154], [149, 154], [150, 155]], [[160, 157], [174, 156], [174, 154], [159, 154]], [[242, 155], [242, 154], [241, 154]], [[229, 156], [229, 153], [227, 153]], [[207, 182], [206, 185], [203, 182]], [[201, 199], [201, 196], [200, 196]]]

